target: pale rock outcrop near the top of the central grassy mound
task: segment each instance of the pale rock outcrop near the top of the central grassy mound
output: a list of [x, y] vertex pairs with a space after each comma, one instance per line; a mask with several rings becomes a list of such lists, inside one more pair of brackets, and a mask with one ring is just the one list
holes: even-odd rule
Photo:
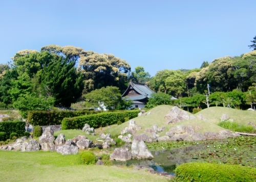
[[186, 111], [183, 111], [176, 106], [173, 107], [170, 110], [170, 113], [165, 115], [164, 118], [167, 120], [167, 124], [169, 123], [174, 124], [184, 120], [197, 119], [195, 116], [189, 115]]

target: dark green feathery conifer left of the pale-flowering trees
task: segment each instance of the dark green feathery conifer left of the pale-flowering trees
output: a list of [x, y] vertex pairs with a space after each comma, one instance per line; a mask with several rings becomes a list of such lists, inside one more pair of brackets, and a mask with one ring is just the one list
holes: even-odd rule
[[55, 98], [55, 106], [70, 107], [81, 96], [82, 75], [73, 61], [59, 57], [42, 69], [40, 77], [43, 93]]

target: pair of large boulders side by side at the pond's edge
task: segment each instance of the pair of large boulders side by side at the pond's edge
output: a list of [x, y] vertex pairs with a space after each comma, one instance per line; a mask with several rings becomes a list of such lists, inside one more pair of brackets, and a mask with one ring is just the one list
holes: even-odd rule
[[110, 155], [111, 160], [127, 161], [131, 159], [153, 159], [154, 156], [147, 149], [143, 141], [133, 140], [132, 151], [126, 147], [116, 148]]

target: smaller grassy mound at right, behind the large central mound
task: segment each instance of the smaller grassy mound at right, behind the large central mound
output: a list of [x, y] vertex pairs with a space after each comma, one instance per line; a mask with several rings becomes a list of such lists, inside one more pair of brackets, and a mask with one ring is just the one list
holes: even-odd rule
[[218, 124], [223, 114], [229, 116], [229, 118], [237, 121], [239, 124], [247, 125], [249, 122], [256, 124], [256, 112], [255, 111], [242, 111], [232, 108], [224, 107], [210, 107], [203, 109], [202, 111], [195, 114], [197, 117], [202, 114], [209, 122]]

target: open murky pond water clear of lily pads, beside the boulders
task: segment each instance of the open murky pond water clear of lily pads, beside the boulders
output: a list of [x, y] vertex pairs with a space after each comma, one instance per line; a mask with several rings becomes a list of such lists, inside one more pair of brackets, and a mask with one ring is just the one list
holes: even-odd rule
[[157, 172], [168, 172], [172, 175], [176, 166], [189, 162], [190, 159], [181, 158], [178, 156], [180, 153], [200, 149], [200, 146], [189, 146], [175, 149], [163, 149], [159, 151], [151, 151], [154, 155], [152, 160], [129, 160], [129, 161], [113, 161], [114, 165], [144, 165], [150, 166]]

